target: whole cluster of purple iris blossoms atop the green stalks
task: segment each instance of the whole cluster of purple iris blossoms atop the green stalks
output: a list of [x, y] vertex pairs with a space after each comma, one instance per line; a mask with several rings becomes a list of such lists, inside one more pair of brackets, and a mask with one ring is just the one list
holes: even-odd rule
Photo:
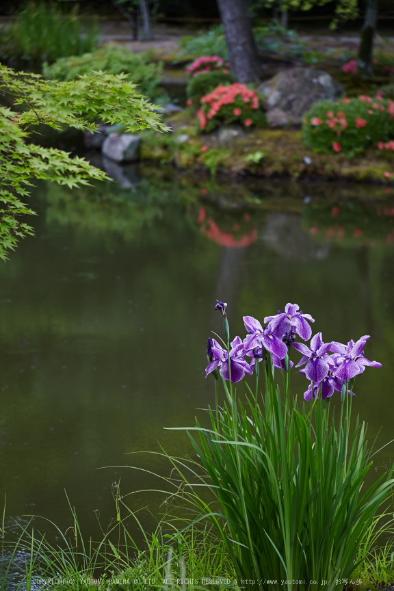
[[[225, 332], [228, 333], [227, 304], [219, 300], [216, 302], [215, 309], [222, 312]], [[312, 329], [309, 322], [314, 321], [311, 315], [304, 314], [297, 304], [286, 304], [285, 312], [278, 311], [274, 316], [266, 316], [264, 318], [266, 326], [261, 326], [259, 320], [252, 316], [244, 316], [248, 334], [243, 341], [240, 337], [235, 337], [229, 343], [229, 350], [224, 349], [215, 339], [208, 339], [207, 355], [210, 363], [205, 370], [205, 377], [219, 369], [224, 379], [229, 380], [228, 356], [231, 382], [239, 382], [246, 373], [251, 375], [256, 363], [259, 363], [267, 354], [271, 355], [274, 367], [279, 369], [293, 367], [293, 362], [289, 361], [287, 356], [289, 348], [293, 346], [302, 354], [296, 367], [305, 366], [300, 369], [300, 373], [303, 373], [311, 384], [304, 393], [304, 398], [311, 400], [319, 393], [322, 399], [326, 399], [332, 396], [334, 391], [342, 392], [344, 384], [359, 373], [363, 373], [365, 367], [382, 367], [381, 363], [370, 361], [364, 356], [368, 335], [356, 342], [351, 340], [347, 345], [337, 341], [324, 343], [321, 332], [317, 332], [311, 338]], [[310, 345], [296, 341], [297, 336], [303, 341], [311, 339]], [[250, 357], [251, 360], [246, 360], [246, 357]], [[347, 390], [347, 393], [352, 392]]]

